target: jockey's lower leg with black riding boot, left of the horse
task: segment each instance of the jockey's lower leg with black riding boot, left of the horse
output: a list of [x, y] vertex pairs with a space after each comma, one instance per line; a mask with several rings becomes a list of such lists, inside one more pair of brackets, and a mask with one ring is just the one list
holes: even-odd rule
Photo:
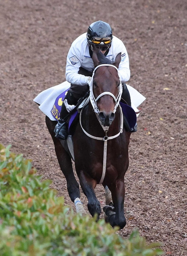
[[[73, 97], [71, 92], [67, 92], [64, 100], [67, 100], [67, 103], [69, 105], [76, 105], [77, 104], [77, 99]], [[55, 137], [61, 140], [66, 140], [68, 136], [68, 126], [65, 120], [65, 117], [69, 114], [69, 112], [66, 109], [66, 106], [64, 103], [62, 103], [61, 107], [61, 113], [60, 117], [58, 119], [58, 123], [55, 126], [54, 132], [55, 132]]]

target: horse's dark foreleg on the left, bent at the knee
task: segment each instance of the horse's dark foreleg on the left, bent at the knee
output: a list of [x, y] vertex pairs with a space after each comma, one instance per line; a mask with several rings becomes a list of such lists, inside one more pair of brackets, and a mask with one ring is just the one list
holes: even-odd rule
[[78, 177], [82, 191], [88, 199], [87, 208], [89, 213], [91, 216], [97, 214], [97, 219], [99, 220], [101, 214], [101, 206], [94, 191], [97, 182], [94, 179], [87, 177], [82, 171], [78, 174]]

